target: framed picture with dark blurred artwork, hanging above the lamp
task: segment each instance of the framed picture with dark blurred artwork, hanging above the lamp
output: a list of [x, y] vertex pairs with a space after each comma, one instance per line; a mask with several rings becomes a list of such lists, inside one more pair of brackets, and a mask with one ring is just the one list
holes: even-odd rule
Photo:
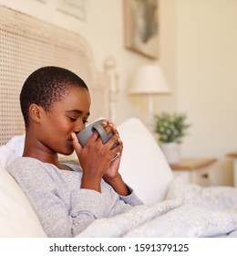
[[159, 52], [158, 0], [124, 0], [125, 47], [150, 59]]

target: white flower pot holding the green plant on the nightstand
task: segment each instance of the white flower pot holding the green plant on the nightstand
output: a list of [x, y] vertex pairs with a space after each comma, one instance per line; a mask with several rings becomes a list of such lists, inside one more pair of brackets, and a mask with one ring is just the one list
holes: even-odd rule
[[160, 144], [160, 148], [169, 164], [178, 164], [180, 162], [180, 144]]

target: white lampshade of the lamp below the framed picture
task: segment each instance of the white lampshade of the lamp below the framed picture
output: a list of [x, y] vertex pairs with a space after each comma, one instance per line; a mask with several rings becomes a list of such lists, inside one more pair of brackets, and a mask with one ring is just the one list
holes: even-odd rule
[[148, 64], [141, 66], [135, 74], [129, 94], [168, 94], [168, 86], [160, 66]]

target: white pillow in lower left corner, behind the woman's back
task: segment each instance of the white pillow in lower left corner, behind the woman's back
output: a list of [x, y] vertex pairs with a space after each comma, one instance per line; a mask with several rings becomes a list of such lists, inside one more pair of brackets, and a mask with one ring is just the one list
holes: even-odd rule
[[0, 237], [46, 237], [22, 189], [0, 166]]

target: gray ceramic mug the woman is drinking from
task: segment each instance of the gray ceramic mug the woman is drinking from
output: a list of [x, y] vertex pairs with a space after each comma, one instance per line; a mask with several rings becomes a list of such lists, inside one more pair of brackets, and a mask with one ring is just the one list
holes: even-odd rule
[[[81, 130], [79, 133], [77, 133], [77, 139], [79, 144], [81, 144], [82, 147], [84, 147], [87, 142], [88, 138], [94, 133], [96, 130], [103, 142], [103, 144], [107, 144], [108, 140], [113, 136], [113, 132], [111, 131], [110, 133], [106, 133], [105, 129], [102, 126], [102, 123], [105, 121], [105, 119], [100, 119], [94, 123], [88, 124], [86, 128]], [[117, 142], [111, 146], [110, 149], [113, 149], [117, 146]], [[119, 154], [115, 155], [112, 160], [114, 160]]]

